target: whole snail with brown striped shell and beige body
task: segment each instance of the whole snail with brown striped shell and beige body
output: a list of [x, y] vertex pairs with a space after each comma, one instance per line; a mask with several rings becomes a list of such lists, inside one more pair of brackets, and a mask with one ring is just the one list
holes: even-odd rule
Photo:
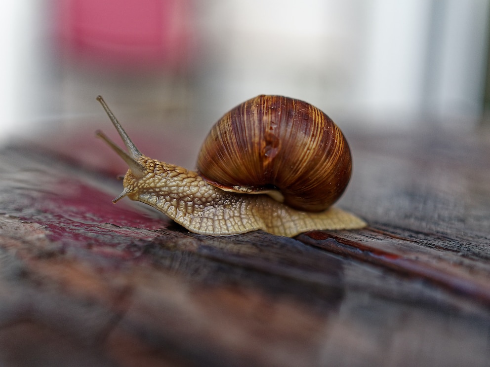
[[97, 100], [128, 150], [97, 131], [129, 166], [114, 203], [127, 196], [206, 235], [262, 229], [292, 237], [366, 225], [331, 207], [350, 180], [351, 153], [333, 121], [306, 102], [261, 95], [235, 107], [211, 128], [190, 171], [143, 155]]

